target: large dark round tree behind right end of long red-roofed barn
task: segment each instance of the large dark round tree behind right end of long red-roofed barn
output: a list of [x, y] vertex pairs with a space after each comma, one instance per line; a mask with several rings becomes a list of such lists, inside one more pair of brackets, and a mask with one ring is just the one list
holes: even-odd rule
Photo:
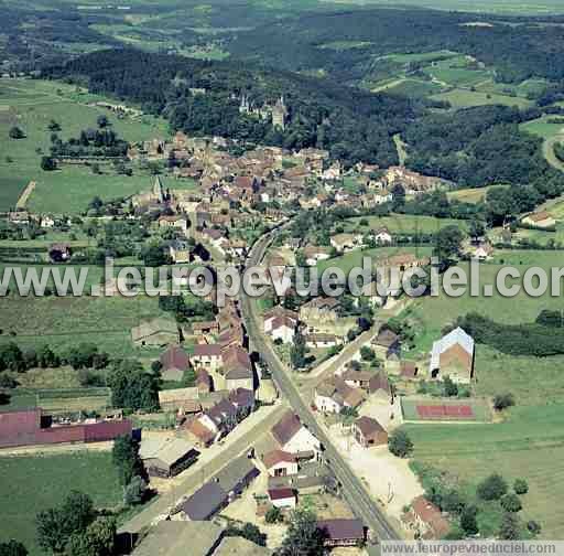
[[111, 403], [130, 411], [159, 409], [159, 378], [145, 373], [139, 361], [117, 362], [108, 376]]

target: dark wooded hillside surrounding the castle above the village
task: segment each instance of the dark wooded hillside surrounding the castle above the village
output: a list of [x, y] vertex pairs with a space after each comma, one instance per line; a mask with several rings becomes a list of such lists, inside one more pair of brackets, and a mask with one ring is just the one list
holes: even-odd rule
[[[346, 164], [398, 163], [392, 136], [424, 114], [422, 104], [406, 98], [328, 79], [129, 49], [96, 52], [43, 75], [79, 81], [93, 93], [139, 103], [169, 117], [174, 129], [285, 148], [324, 148]], [[206, 93], [193, 95], [191, 88]], [[283, 96], [289, 110], [285, 129], [273, 127], [269, 118], [240, 114], [242, 95], [257, 107]]]

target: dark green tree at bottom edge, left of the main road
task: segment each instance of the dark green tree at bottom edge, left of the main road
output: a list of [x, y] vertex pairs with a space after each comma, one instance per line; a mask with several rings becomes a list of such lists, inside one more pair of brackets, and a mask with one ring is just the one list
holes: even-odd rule
[[282, 542], [280, 556], [321, 556], [324, 554], [324, 533], [317, 528], [313, 512], [295, 510]]

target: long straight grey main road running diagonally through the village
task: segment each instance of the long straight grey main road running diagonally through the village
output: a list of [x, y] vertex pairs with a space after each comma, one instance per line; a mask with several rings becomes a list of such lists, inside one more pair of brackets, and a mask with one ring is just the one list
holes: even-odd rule
[[[264, 257], [264, 252], [273, 239], [278, 231], [261, 237], [252, 247], [247, 260], [247, 266], [260, 264]], [[307, 407], [300, 396], [291, 378], [288, 375], [284, 364], [276, 356], [274, 351], [264, 341], [261, 323], [256, 314], [252, 300], [245, 292], [240, 296], [241, 311], [247, 325], [247, 332], [254, 350], [259, 351], [269, 365], [272, 376], [278, 387], [290, 402], [292, 408], [300, 416], [302, 423], [319, 439], [325, 448], [325, 458], [332, 466], [337, 479], [343, 485], [345, 498], [350, 504], [352, 511], [364, 523], [370, 527], [372, 535], [381, 539], [400, 539], [400, 535], [388, 522], [383, 512], [366, 490], [362, 482], [351, 471], [346, 461], [334, 448], [330, 439], [319, 427], [310, 407]], [[373, 550], [370, 549], [372, 553]]]

